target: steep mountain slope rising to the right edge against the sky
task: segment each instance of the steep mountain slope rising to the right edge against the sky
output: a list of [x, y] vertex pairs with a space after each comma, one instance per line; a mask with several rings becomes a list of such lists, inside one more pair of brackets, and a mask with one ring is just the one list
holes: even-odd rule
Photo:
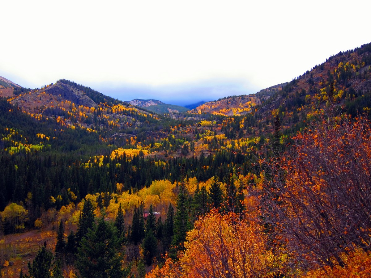
[[[352, 116], [371, 107], [371, 43], [340, 52], [314, 66], [290, 82], [278, 84], [249, 96], [226, 97], [208, 102], [193, 113], [242, 116], [236, 128], [224, 125], [229, 134], [246, 131], [245, 135], [269, 133], [279, 116], [285, 129], [299, 129], [318, 114], [319, 109], [333, 107]], [[338, 107], [338, 108], [336, 108]], [[232, 132], [233, 130], [233, 132]], [[231, 133], [230, 133], [231, 132]], [[240, 133], [242, 136], [243, 133]], [[227, 136], [228, 137], [228, 136]]]

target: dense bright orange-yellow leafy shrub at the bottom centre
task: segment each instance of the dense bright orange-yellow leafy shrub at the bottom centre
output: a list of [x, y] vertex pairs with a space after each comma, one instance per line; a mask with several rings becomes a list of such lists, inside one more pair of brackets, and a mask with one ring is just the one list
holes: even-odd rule
[[185, 277], [273, 277], [276, 258], [266, 243], [257, 221], [211, 211], [188, 232], [180, 264]]

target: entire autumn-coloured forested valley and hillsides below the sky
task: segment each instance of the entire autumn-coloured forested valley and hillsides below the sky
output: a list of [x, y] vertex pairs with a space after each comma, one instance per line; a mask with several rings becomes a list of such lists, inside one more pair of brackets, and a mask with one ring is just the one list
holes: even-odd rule
[[370, 72], [366, 44], [182, 113], [2, 78], [1, 274], [367, 277]]

